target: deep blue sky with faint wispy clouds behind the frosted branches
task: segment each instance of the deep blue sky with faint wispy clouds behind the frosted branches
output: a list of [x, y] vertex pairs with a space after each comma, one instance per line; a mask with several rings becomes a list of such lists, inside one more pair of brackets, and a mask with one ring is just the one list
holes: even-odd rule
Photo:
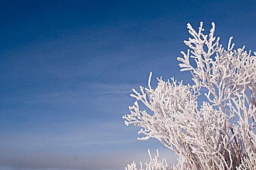
[[114, 170], [158, 141], [126, 127], [132, 88], [180, 73], [186, 24], [255, 50], [254, 0], [0, 1], [0, 169]]

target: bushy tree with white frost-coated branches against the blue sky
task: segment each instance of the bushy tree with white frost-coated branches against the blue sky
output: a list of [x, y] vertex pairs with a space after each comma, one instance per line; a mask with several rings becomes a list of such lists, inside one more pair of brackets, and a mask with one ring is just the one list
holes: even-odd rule
[[[233, 37], [225, 50], [214, 23], [209, 34], [203, 34], [202, 22], [198, 32], [187, 28], [190, 50], [177, 60], [180, 71], [191, 72], [193, 85], [160, 77], [153, 89], [151, 72], [147, 88], [133, 89], [136, 102], [123, 116], [126, 125], [141, 127], [138, 140], [158, 139], [178, 155], [178, 163], [168, 166], [149, 153], [151, 161], [140, 170], [256, 170], [256, 52], [233, 50]], [[198, 106], [202, 91], [206, 101]], [[138, 101], [150, 112], [140, 110]], [[134, 162], [125, 169], [138, 170]]]

